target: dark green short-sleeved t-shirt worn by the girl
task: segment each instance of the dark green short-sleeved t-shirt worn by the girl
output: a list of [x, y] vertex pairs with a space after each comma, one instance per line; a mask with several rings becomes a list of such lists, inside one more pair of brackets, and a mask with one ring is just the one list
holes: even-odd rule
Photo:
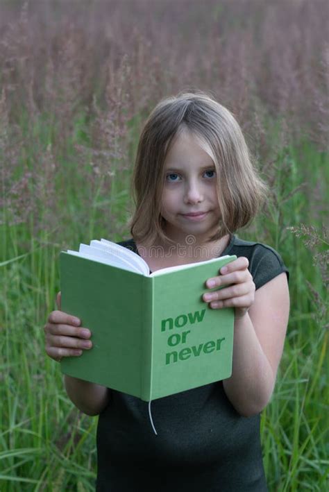
[[[137, 253], [135, 241], [119, 243]], [[230, 239], [222, 255], [245, 256], [256, 289], [287, 272], [264, 244]], [[129, 300], [127, 299], [127, 309]], [[111, 390], [97, 428], [99, 492], [264, 492], [260, 416], [240, 416], [221, 381], [151, 404]]]

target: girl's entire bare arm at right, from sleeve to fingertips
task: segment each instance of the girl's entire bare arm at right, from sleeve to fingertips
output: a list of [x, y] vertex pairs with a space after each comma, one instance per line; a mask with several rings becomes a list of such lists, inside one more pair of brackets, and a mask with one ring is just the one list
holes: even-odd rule
[[212, 293], [215, 300], [210, 305], [235, 307], [233, 373], [223, 387], [237, 412], [252, 416], [273, 392], [287, 330], [289, 291], [285, 273], [255, 291], [247, 268], [248, 260], [240, 257], [227, 265], [224, 275], [211, 279], [216, 285], [234, 285]]

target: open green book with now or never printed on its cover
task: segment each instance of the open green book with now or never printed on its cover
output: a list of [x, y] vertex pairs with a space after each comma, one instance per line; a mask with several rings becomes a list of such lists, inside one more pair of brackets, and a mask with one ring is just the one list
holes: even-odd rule
[[202, 300], [205, 281], [235, 256], [149, 273], [133, 251], [105, 239], [60, 253], [61, 309], [93, 346], [62, 372], [148, 402], [229, 378], [234, 309]]

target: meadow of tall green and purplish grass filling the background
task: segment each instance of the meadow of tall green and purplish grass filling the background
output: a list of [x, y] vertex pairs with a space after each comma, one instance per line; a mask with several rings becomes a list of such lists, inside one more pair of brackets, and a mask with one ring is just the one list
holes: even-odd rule
[[96, 418], [44, 351], [58, 253], [130, 237], [143, 121], [198, 89], [235, 114], [269, 183], [238, 235], [290, 271], [261, 421], [269, 491], [328, 490], [328, 20], [324, 0], [0, 3], [1, 492], [94, 489]]

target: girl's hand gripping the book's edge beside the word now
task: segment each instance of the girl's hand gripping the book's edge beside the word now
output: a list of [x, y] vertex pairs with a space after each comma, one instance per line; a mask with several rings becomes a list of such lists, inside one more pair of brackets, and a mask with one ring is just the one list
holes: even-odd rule
[[222, 266], [219, 270], [221, 275], [209, 278], [205, 282], [208, 289], [222, 288], [203, 294], [203, 300], [210, 303], [210, 307], [213, 309], [235, 307], [235, 316], [244, 316], [255, 299], [255, 284], [251, 273], [248, 271], [248, 265], [247, 258], [241, 256]]

